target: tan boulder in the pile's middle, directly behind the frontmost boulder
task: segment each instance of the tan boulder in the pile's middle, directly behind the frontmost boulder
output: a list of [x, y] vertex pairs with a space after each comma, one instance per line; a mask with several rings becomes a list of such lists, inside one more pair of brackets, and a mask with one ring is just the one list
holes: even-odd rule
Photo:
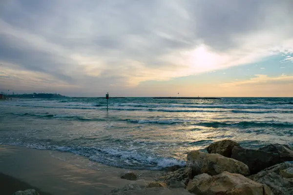
[[250, 174], [248, 166], [240, 161], [219, 154], [207, 154], [197, 150], [188, 153], [187, 166], [192, 169], [192, 176], [203, 173], [214, 176], [224, 171], [244, 176]]

